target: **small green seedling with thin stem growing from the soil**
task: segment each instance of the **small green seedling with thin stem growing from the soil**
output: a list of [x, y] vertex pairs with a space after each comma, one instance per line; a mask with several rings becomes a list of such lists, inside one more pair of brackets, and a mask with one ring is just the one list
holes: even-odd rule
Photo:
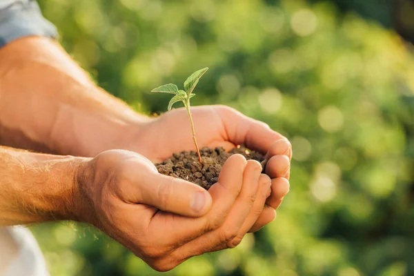
[[161, 93], [170, 93], [174, 94], [175, 96], [170, 99], [170, 103], [168, 103], [168, 111], [171, 110], [172, 105], [174, 103], [177, 103], [178, 101], [182, 101], [184, 103], [184, 107], [187, 110], [188, 117], [190, 117], [190, 123], [191, 123], [191, 131], [193, 132], [193, 141], [195, 145], [195, 149], [197, 150], [197, 155], [199, 157], [199, 162], [201, 164], [201, 155], [200, 150], [197, 145], [197, 139], [195, 139], [195, 128], [194, 128], [194, 122], [193, 117], [191, 116], [190, 112], [190, 99], [195, 96], [193, 93], [193, 90], [195, 86], [197, 86], [197, 83], [199, 82], [199, 79], [204, 75], [204, 73], [208, 70], [208, 68], [203, 68], [201, 70], [198, 70], [196, 72], [193, 72], [193, 74], [184, 81], [184, 90], [178, 90], [177, 86], [172, 83], [165, 84], [164, 86], [159, 86], [157, 88], [154, 88], [151, 90], [151, 92], [161, 92]]

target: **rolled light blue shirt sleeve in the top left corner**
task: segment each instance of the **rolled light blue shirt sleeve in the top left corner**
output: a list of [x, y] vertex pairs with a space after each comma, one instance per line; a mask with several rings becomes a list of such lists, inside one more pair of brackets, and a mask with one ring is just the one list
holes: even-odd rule
[[0, 0], [0, 48], [21, 37], [57, 38], [57, 29], [46, 20], [34, 0]]

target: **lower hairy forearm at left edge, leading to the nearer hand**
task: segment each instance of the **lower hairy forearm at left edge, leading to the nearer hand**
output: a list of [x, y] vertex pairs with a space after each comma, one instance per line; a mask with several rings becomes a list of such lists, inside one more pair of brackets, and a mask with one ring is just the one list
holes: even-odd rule
[[77, 219], [85, 160], [0, 147], [0, 226]]

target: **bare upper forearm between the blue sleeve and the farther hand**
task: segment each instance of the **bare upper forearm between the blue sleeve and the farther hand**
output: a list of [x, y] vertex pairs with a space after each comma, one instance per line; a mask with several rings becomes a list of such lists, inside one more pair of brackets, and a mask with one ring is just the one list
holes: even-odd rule
[[1, 144], [94, 156], [146, 120], [95, 86], [55, 41], [27, 37], [0, 50]]

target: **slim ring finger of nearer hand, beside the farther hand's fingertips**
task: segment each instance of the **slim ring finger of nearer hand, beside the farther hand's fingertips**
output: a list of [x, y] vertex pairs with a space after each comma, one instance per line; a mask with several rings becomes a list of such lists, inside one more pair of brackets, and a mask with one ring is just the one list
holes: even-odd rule
[[262, 214], [265, 201], [270, 195], [271, 184], [272, 184], [272, 181], [270, 177], [268, 177], [268, 175], [264, 175], [264, 174], [260, 175], [259, 186], [256, 191], [257, 197], [255, 200], [255, 204], [253, 204], [253, 208], [250, 210], [250, 213], [248, 214], [248, 217], [244, 221], [242, 228], [240, 228], [239, 234], [230, 243], [237, 245], [240, 242], [242, 242], [244, 235], [246, 235], [246, 233], [248, 233], [248, 230], [250, 230], [250, 228], [253, 227], [259, 215]]

